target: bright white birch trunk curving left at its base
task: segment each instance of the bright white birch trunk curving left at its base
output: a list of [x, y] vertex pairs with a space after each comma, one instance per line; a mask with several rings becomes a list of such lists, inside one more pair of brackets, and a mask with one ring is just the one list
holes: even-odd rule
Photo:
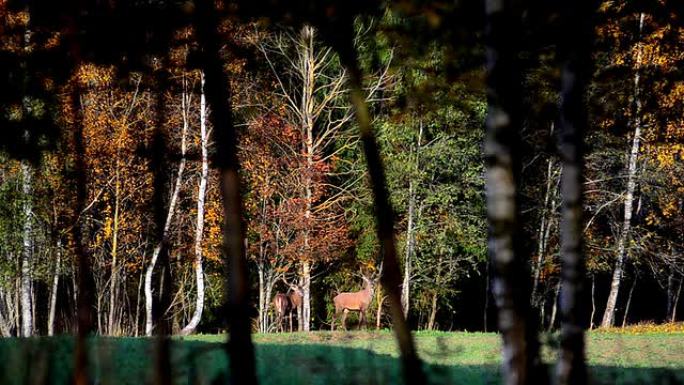
[[[185, 80], [184, 80], [185, 82]], [[200, 73], [201, 94], [200, 94], [200, 147], [202, 149], [202, 173], [197, 189], [197, 225], [195, 227], [195, 284], [197, 286], [197, 297], [195, 300], [195, 311], [190, 322], [181, 330], [181, 334], [187, 335], [197, 329], [202, 319], [204, 309], [204, 270], [202, 269], [202, 235], [204, 233], [204, 199], [207, 192], [207, 180], [209, 179], [209, 142], [206, 120], [206, 99], [204, 95], [204, 74]], [[185, 136], [189, 127], [187, 117], [187, 95], [183, 94], [183, 148], [185, 148]], [[185, 154], [185, 150], [183, 150]]]

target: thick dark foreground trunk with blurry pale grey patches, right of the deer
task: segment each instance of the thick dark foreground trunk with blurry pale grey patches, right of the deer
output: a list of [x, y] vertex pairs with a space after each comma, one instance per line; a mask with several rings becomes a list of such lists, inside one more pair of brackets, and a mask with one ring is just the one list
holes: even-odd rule
[[522, 238], [517, 234], [520, 171], [521, 76], [519, 48], [522, 10], [514, 1], [486, 2], [487, 102], [486, 165], [489, 254], [493, 295], [503, 338], [503, 378], [507, 385], [544, 384], [536, 326], [530, 315], [531, 282]]

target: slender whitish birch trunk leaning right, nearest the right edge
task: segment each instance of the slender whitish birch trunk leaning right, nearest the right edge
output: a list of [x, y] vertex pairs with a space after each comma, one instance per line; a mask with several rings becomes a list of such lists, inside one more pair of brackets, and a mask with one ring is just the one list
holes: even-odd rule
[[622, 223], [622, 231], [618, 237], [618, 251], [617, 260], [615, 261], [615, 268], [613, 270], [613, 278], [610, 283], [610, 293], [606, 301], [606, 309], [603, 313], [602, 327], [610, 327], [615, 323], [615, 310], [617, 304], [618, 293], [620, 292], [620, 283], [622, 282], [623, 270], [625, 260], [627, 259], [626, 248], [630, 239], [630, 229], [632, 226], [632, 206], [634, 203], [634, 190], [636, 188], [636, 174], [637, 161], [639, 159], [639, 140], [641, 138], [641, 96], [639, 88], [639, 77], [641, 71], [642, 48], [641, 48], [641, 34], [644, 29], [644, 13], [639, 14], [639, 43], [637, 45], [636, 58], [636, 72], [634, 74], [634, 118], [632, 125], [634, 127], [634, 136], [632, 137], [632, 150], [629, 154], [629, 163], [627, 166], [627, 191], [625, 193], [624, 204], [624, 218]]

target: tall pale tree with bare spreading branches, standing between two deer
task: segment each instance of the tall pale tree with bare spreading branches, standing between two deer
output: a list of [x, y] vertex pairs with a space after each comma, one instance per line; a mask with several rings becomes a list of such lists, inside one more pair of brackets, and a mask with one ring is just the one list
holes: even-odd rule
[[[345, 150], [353, 148], [358, 138], [349, 131], [353, 111], [346, 102], [349, 90], [346, 71], [341, 68], [335, 53], [318, 41], [316, 29], [305, 25], [297, 35], [281, 33], [259, 45], [264, 58], [276, 78], [279, 96], [287, 106], [288, 121], [301, 130], [300, 148], [293, 149], [303, 161], [301, 200], [304, 202], [304, 221], [301, 231], [302, 250], [299, 286], [303, 292], [300, 330], [308, 331], [311, 321], [311, 276], [318, 259], [325, 256], [319, 247], [334, 250], [333, 245], [322, 245], [315, 239], [316, 223], [334, 223], [341, 219], [335, 207], [349, 197], [351, 187], [359, 178], [325, 193], [325, 178], [315, 180], [315, 169], [325, 167]], [[284, 63], [284, 70], [276, 60]], [[387, 68], [378, 74], [366, 91], [366, 101], [377, 101], [379, 91], [390, 80]], [[329, 186], [328, 186], [329, 187]], [[337, 219], [336, 219], [337, 218]], [[318, 246], [317, 246], [317, 245]]]

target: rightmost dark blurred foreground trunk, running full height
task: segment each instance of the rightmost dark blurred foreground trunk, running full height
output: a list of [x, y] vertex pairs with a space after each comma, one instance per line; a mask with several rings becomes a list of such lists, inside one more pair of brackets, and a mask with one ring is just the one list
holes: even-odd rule
[[587, 383], [584, 352], [585, 259], [582, 242], [586, 84], [591, 66], [591, 2], [567, 0], [561, 8], [559, 56], [563, 59], [558, 153], [561, 159], [560, 350], [556, 383]]

